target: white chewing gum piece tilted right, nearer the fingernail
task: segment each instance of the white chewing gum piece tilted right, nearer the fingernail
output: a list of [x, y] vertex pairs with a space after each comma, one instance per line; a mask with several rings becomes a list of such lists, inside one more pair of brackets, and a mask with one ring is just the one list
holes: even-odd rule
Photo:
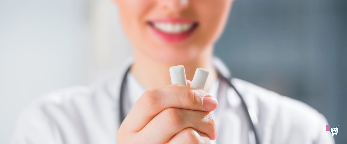
[[192, 80], [191, 87], [203, 90], [209, 73], [210, 72], [207, 69], [197, 68]]

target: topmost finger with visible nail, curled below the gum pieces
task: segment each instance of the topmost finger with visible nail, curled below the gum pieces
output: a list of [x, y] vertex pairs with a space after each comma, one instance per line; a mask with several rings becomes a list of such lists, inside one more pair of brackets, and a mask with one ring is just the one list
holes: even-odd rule
[[202, 90], [177, 84], [166, 85], [145, 92], [136, 101], [120, 129], [139, 132], [157, 114], [170, 107], [210, 112], [217, 105], [217, 99]]

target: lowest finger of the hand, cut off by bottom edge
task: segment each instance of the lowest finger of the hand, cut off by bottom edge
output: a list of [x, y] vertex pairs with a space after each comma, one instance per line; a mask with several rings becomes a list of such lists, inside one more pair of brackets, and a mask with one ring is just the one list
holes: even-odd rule
[[176, 134], [168, 144], [210, 144], [209, 137], [193, 128], [186, 128]]

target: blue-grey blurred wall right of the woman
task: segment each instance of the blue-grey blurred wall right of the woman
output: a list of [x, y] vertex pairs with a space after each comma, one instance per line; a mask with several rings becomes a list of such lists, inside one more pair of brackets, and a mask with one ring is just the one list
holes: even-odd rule
[[347, 142], [346, 0], [236, 0], [215, 54], [234, 77], [339, 123], [335, 141]]

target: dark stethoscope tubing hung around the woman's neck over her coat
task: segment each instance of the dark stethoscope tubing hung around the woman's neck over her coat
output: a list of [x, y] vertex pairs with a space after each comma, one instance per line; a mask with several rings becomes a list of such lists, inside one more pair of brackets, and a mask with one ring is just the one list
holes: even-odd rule
[[[219, 63], [219, 62], [218, 62]], [[230, 87], [232, 87], [235, 92], [237, 93], [237, 95], [239, 96], [239, 98], [241, 99], [241, 103], [243, 105], [243, 108], [246, 110], [246, 112], [248, 113], [247, 118], [250, 120], [250, 125], [252, 127], [252, 131], [249, 133], [249, 142], [253, 142], [256, 144], [260, 144], [260, 140], [259, 140], [259, 135], [258, 135], [258, 129], [259, 129], [259, 121], [258, 121], [258, 117], [255, 113], [255, 111], [249, 107], [247, 107], [245, 100], [243, 99], [243, 97], [241, 96], [241, 94], [238, 92], [238, 90], [235, 88], [235, 86], [231, 83], [231, 76], [227, 76], [228, 74], [226, 73], [221, 73], [221, 69], [225, 67], [221, 67], [219, 66], [218, 63], [214, 63], [214, 66], [217, 70], [218, 76], [223, 79], [224, 81], [226, 81], [228, 83], [228, 85]], [[120, 93], [119, 93], [119, 117], [120, 117], [120, 124], [124, 121], [125, 119], [125, 113], [124, 113], [124, 86], [126, 84], [126, 77], [127, 74], [129, 73], [131, 65], [128, 67], [127, 71], [125, 72], [123, 78], [122, 78], [122, 83], [120, 86]], [[253, 135], [254, 139], [251, 139], [251, 135]]]

